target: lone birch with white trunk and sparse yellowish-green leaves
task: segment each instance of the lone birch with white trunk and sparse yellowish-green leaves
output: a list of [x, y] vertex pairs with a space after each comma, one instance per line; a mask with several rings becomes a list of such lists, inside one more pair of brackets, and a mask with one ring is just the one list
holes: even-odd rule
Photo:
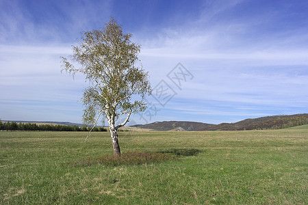
[[[131, 42], [131, 37], [111, 18], [104, 28], [83, 32], [79, 45], [73, 46], [70, 59], [79, 68], [61, 57], [62, 70], [73, 76], [85, 74], [90, 82], [81, 98], [84, 123], [94, 127], [101, 115], [107, 118], [115, 156], [120, 155], [118, 128], [129, 121], [131, 113], [146, 109], [144, 96], [151, 94], [148, 72], [137, 65], [140, 45]], [[121, 115], [126, 119], [116, 125]]]

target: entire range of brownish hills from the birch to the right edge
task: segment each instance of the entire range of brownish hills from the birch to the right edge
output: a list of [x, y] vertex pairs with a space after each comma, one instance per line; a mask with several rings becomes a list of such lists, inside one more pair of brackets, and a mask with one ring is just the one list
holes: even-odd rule
[[151, 124], [136, 124], [133, 127], [150, 128], [153, 131], [244, 131], [287, 128], [303, 124], [308, 124], [307, 113], [249, 118], [235, 123], [207, 124], [203, 122], [164, 121]]

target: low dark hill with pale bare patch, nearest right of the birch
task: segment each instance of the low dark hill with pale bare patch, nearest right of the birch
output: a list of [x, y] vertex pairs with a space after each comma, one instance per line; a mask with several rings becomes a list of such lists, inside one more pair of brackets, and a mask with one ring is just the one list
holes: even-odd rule
[[133, 127], [149, 128], [154, 131], [171, 131], [178, 129], [180, 131], [199, 131], [214, 126], [214, 124], [206, 124], [203, 122], [186, 122], [186, 121], [164, 121], [153, 122], [151, 124], [136, 124]]

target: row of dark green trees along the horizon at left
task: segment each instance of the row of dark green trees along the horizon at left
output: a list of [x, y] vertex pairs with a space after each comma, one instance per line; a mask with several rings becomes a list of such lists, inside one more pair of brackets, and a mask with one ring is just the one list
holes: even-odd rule
[[[88, 132], [90, 128], [87, 126], [70, 126], [61, 124], [36, 124], [36, 123], [16, 123], [16, 122], [2, 122], [0, 120], [0, 131], [66, 131], [66, 132]], [[106, 132], [102, 127], [94, 127], [93, 132]]]

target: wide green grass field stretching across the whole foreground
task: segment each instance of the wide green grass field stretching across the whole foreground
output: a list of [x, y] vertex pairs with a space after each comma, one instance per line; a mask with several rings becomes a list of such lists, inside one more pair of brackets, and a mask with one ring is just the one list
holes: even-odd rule
[[308, 127], [119, 133], [122, 152], [198, 154], [75, 166], [112, 154], [110, 133], [0, 132], [0, 204], [308, 204]]

